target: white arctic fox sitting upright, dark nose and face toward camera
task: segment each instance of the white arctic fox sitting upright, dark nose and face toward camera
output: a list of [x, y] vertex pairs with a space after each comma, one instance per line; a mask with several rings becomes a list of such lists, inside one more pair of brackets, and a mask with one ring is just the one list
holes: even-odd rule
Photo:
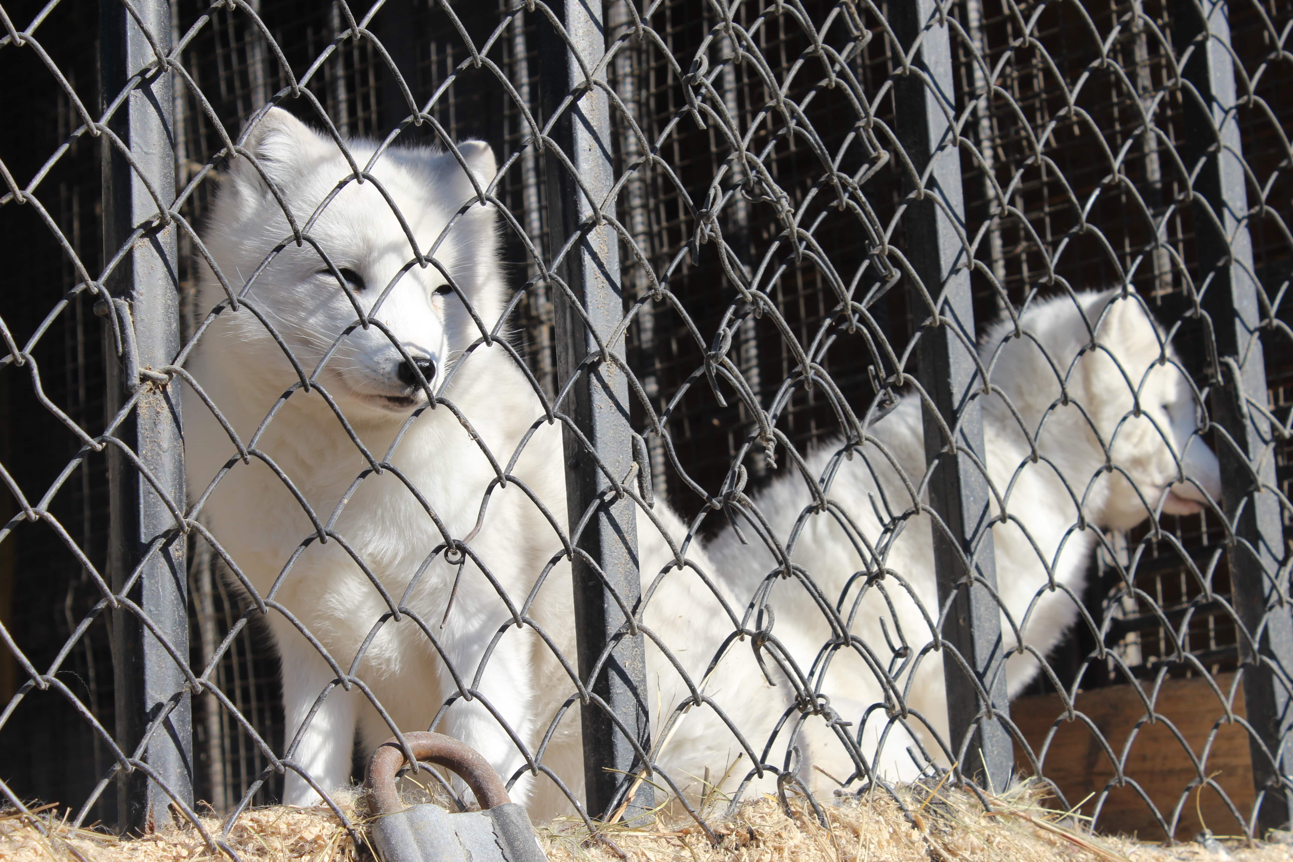
[[[367, 168], [378, 182], [341, 184], [353, 169], [336, 143], [279, 109], [260, 119], [244, 146], [265, 176], [247, 158], [234, 159], [204, 231], [239, 305], [212, 319], [187, 368], [248, 457], [186, 389], [186, 459], [199, 513], [269, 605], [287, 739], [297, 739], [284, 801], [308, 804], [317, 790], [347, 783], [356, 734], [365, 751], [392, 735], [372, 702], [401, 730], [419, 730], [459, 695], [437, 729], [509, 778], [525, 765], [518, 744], [535, 753], [575, 693], [555, 654], [573, 667], [575, 650], [564, 545], [535, 503], [565, 530], [561, 426], [544, 421], [506, 346], [476, 344], [481, 330], [463, 301], [486, 330], [504, 308], [497, 213], [478, 202], [464, 205], [477, 193], [447, 152], [390, 149]], [[361, 167], [375, 152], [369, 141], [348, 146]], [[489, 147], [468, 141], [459, 151], [486, 186], [495, 174]], [[295, 242], [279, 195], [308, 242]], [[410, 264], [406, 231], [434, 264]], [[211, 271], [199, 289], [204, 313], [226, 300]], [[371, 315], [367, 327], [358, 324], [356, 305]], [[429, 407], [423, 379], [451, 405]], [[654, 516], [683, 540], [685, 529], [663, 504]], [[637, 535], [650, 583], [675, 557], [643, 514]], [[449, 539], [467, 544], [465, 560], [440, 551]], [[685, 556], [688, 566], [663, 576], [644, 622], [701, 685], [732, 625], [719, 593], [697, 575], [712, 574], [703, 551], [692, 543]], [[390, 615], [375, 583], [411, 614], [387, 619], [356, 663]], [[661, 719], [688, 689], [653, 645], [648, 657], [658, 743]], [[362, 686], [330, 688], [337, 668]], [[749, 641], [728, 651], [703, 690], [756, 755], [793, 697], [786, 685], [768, 686]], [[707, 706], [690, 710], [665, 737], [659, 762], [693, 792], [688, 775], [721, 774], [740, 751]], [[542, 762], [582, 797], [578, 702]], [[512, 797], [529, 800], [538, 815], [569, 810], [555, 782], [529, 772]]]

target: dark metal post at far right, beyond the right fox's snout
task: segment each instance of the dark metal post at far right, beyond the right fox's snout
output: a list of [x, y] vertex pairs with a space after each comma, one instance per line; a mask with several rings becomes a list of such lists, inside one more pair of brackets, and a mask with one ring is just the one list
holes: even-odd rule
[[[1186, 160], [1193, 181], [1199, 280], [1195, 289], [1215, 345], [1213, 417], [1226, 516], [1235, 540], [1227, 549], [1240, 635], [1244, 702], [1253, 734], [1254, 805], [1259, 834], [1283, 827], [1293, 812], [1293, 618], [1289, 558], [1275, 476], [1261, 331], [1262, 286], [1253, 270], [1239, 100], [1224, 0], [1175, 4], [1178, 50], [1184, 65]], [[1200, 163], [1202, 163], [1200, 165]], [[1256, 638], [1256, 644], [1249, 637]]]

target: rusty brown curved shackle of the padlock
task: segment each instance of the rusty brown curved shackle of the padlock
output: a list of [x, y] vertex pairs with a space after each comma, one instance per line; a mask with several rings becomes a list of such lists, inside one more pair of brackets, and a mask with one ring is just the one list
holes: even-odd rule
[[[489, 761], [467, 743], [428, 730], [406, 733], [403, 738], [414, 757], [428, 764], [445, 766], [467, 782], [482, 809], [512, 801], [508, 799], [503, 779], [498, 777]], [[387, 739], [372, 753], [365, 783], [372, 792], [374, 814], [394, 814], [403, 810], [400, 791], [396, 790], [396, 773], [403, 768], [405, 762], [406, 757], [403, 746], [400, 744], [400, 737]]]

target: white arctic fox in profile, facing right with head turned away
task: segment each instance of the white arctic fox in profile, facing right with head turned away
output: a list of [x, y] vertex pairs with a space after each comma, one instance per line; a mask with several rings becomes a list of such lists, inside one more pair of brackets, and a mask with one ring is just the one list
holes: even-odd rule
[[[1002, 632], [1007, 653], [1019, 646], [1018, 632], [1024, 645], [1007, 660], [1014, 697], [1077, 618], [1095, 530], [1127, 530], [1151, 512], [1197, 512], [1205, 492], [1219, 500], [1221, 477], [1199, 437], [1195, 390], [1137, 295], [1108, 291], [1034, 302], [1020, 315], [1018, 332], [1011, 321], [990, 327], [979, 353], [993, 386], [983, 401], [987, 473], [996, 492], [990, 513], [999, 517], [1003, 508], [1006, 518], [993, 526]], [[743, 598], [778, 570], [767, 543], [775, 538], [825, 604], [838, 606], [857, 646], [822, 662], [818, 650], [831, 633], [818, 601], [798, 580], [768, 580], [777, 625], [794, 620], [795, 638], [811, 629], [795, 641], [796, 658], [804, 667], [816, 662], [817, 690], [853, 722], [851, 733], [881, 773], [906, 779], [915, 773], [908, 730], [944, 765], [928, 731], [948, 738], [943, 657], [928, 650], [931, 620], [939, 616], [931, 525], [913, 499], [926, 467], [918, 397], [903, 397], [870, 434], [874, 439], [847, 459], [840, 443], [808, 455], [807, 472], [830, 505], [815, 500], [798, 470], [778, 477], [753, 499], [767, 526], [749, 518], [742, 523], [749, 544], [728, 527], [707, 551]], [[893, 722], [878, 755], [890, 719], [874, 704], [887, 699], [896, 713], [896, 703], [873, 667], [890, 675], [905, 706], [928, 722], [915, 716]], [[864, 715], [865, 730], [859, 730]], [[821, 750], [809, 757], [842, 762]]]

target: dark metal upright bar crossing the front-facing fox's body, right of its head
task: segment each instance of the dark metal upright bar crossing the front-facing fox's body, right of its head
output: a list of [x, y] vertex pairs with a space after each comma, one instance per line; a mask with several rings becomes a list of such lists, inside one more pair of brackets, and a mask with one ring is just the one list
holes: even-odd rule
[[[550, 258], [569, 238], [582, 235], [568, 252], [559, 270], [587, 315], [579, 315], [565, 291], [553, 287], [556, 305], [557, 383], [565, 386], [575, 377], [581, 362], [590, 354], [596, 362], [579, 371], [573, 393], [560, 408], [568, 411], [579, 432], [591, 442], [614, 479], [628, 476], [634, 463], [628, 419], [628, 383], [625, 372], [601, 355], [600, 342], [621, 362], [623, 337], [609, 337], [625, 317], [625, 297], [619, 270], [619, 240], [614, 230], [597, 225], [593, 204], [600, 207], [614, 181], [609, 100], [604, 90], [588, 87], [583, 70], [597, 68], [605, 53], [601, 4], [578, 0], [550, 1], [561, 21], [569, 43], [540, 18], [539, 68], [543, 116], [551, 120], [562, 111], [552, 128], [552, 138], [569, 158], [574, 176], [551, 154], [544, 164], [548, 187]], [[578, 52], [578, 54], [575, 53]], [[579, 59], [583, 61], [581, 67]], [[605, 74], [605, 70], [599, 72]], [[562, 101], [570, 96], [570, 103]], [[577, 182], [578, 178], [578, 182]], [[582, 189], [581, 189], [582, 185]], [[587, 194], [584, 194], [587, 190]], [[613, 215], [613, 212], [612, 212]], [[625, 818], [632, 819], [650, 808], [652, 791], [640, 783], [634, 799], [622, 796], [631, 786], [626, 774], [643, 769], [628, 738], [646, 751], [649, 726], [646, 708], [646, 668], [643, 636], [632, 627], [626, 633], [625, 615], [612, 591], [636, 613], [641, 600], [637, 571], [637, 530], [634, 501], [617, 499], [612, 482], [569, 428], [565, 432], [566, 509], [572, 529], [584, 513], [596, 509], [578, 538], [579, 548], [596, 567], [577, 556], [574, 562], [574, 611], [579, 653], [579, 673], [609, 708], [595, 703], [582, 710], [583, 772], [588, 810], [609, 815], [627, 803]], [[595, 678], [588, 678], [606, 645], [617, 642]], [[615, 721], [612, 721], [610, 716]]]

